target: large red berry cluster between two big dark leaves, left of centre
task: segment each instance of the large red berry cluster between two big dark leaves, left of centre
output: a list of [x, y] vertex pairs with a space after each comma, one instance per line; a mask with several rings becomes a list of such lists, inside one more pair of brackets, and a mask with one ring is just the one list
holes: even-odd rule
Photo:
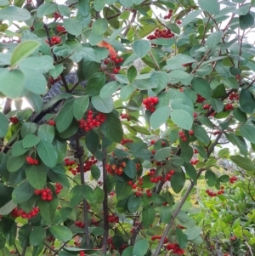
[[94, 128], [99, 127], [103, 122], [105, 122], [106, 115], [99, 112], [95, 116], [93, 111], [89, 110], [87, 113], [86, 120], [82, 119], [79, 121], [80, 128], [88, 132]]

